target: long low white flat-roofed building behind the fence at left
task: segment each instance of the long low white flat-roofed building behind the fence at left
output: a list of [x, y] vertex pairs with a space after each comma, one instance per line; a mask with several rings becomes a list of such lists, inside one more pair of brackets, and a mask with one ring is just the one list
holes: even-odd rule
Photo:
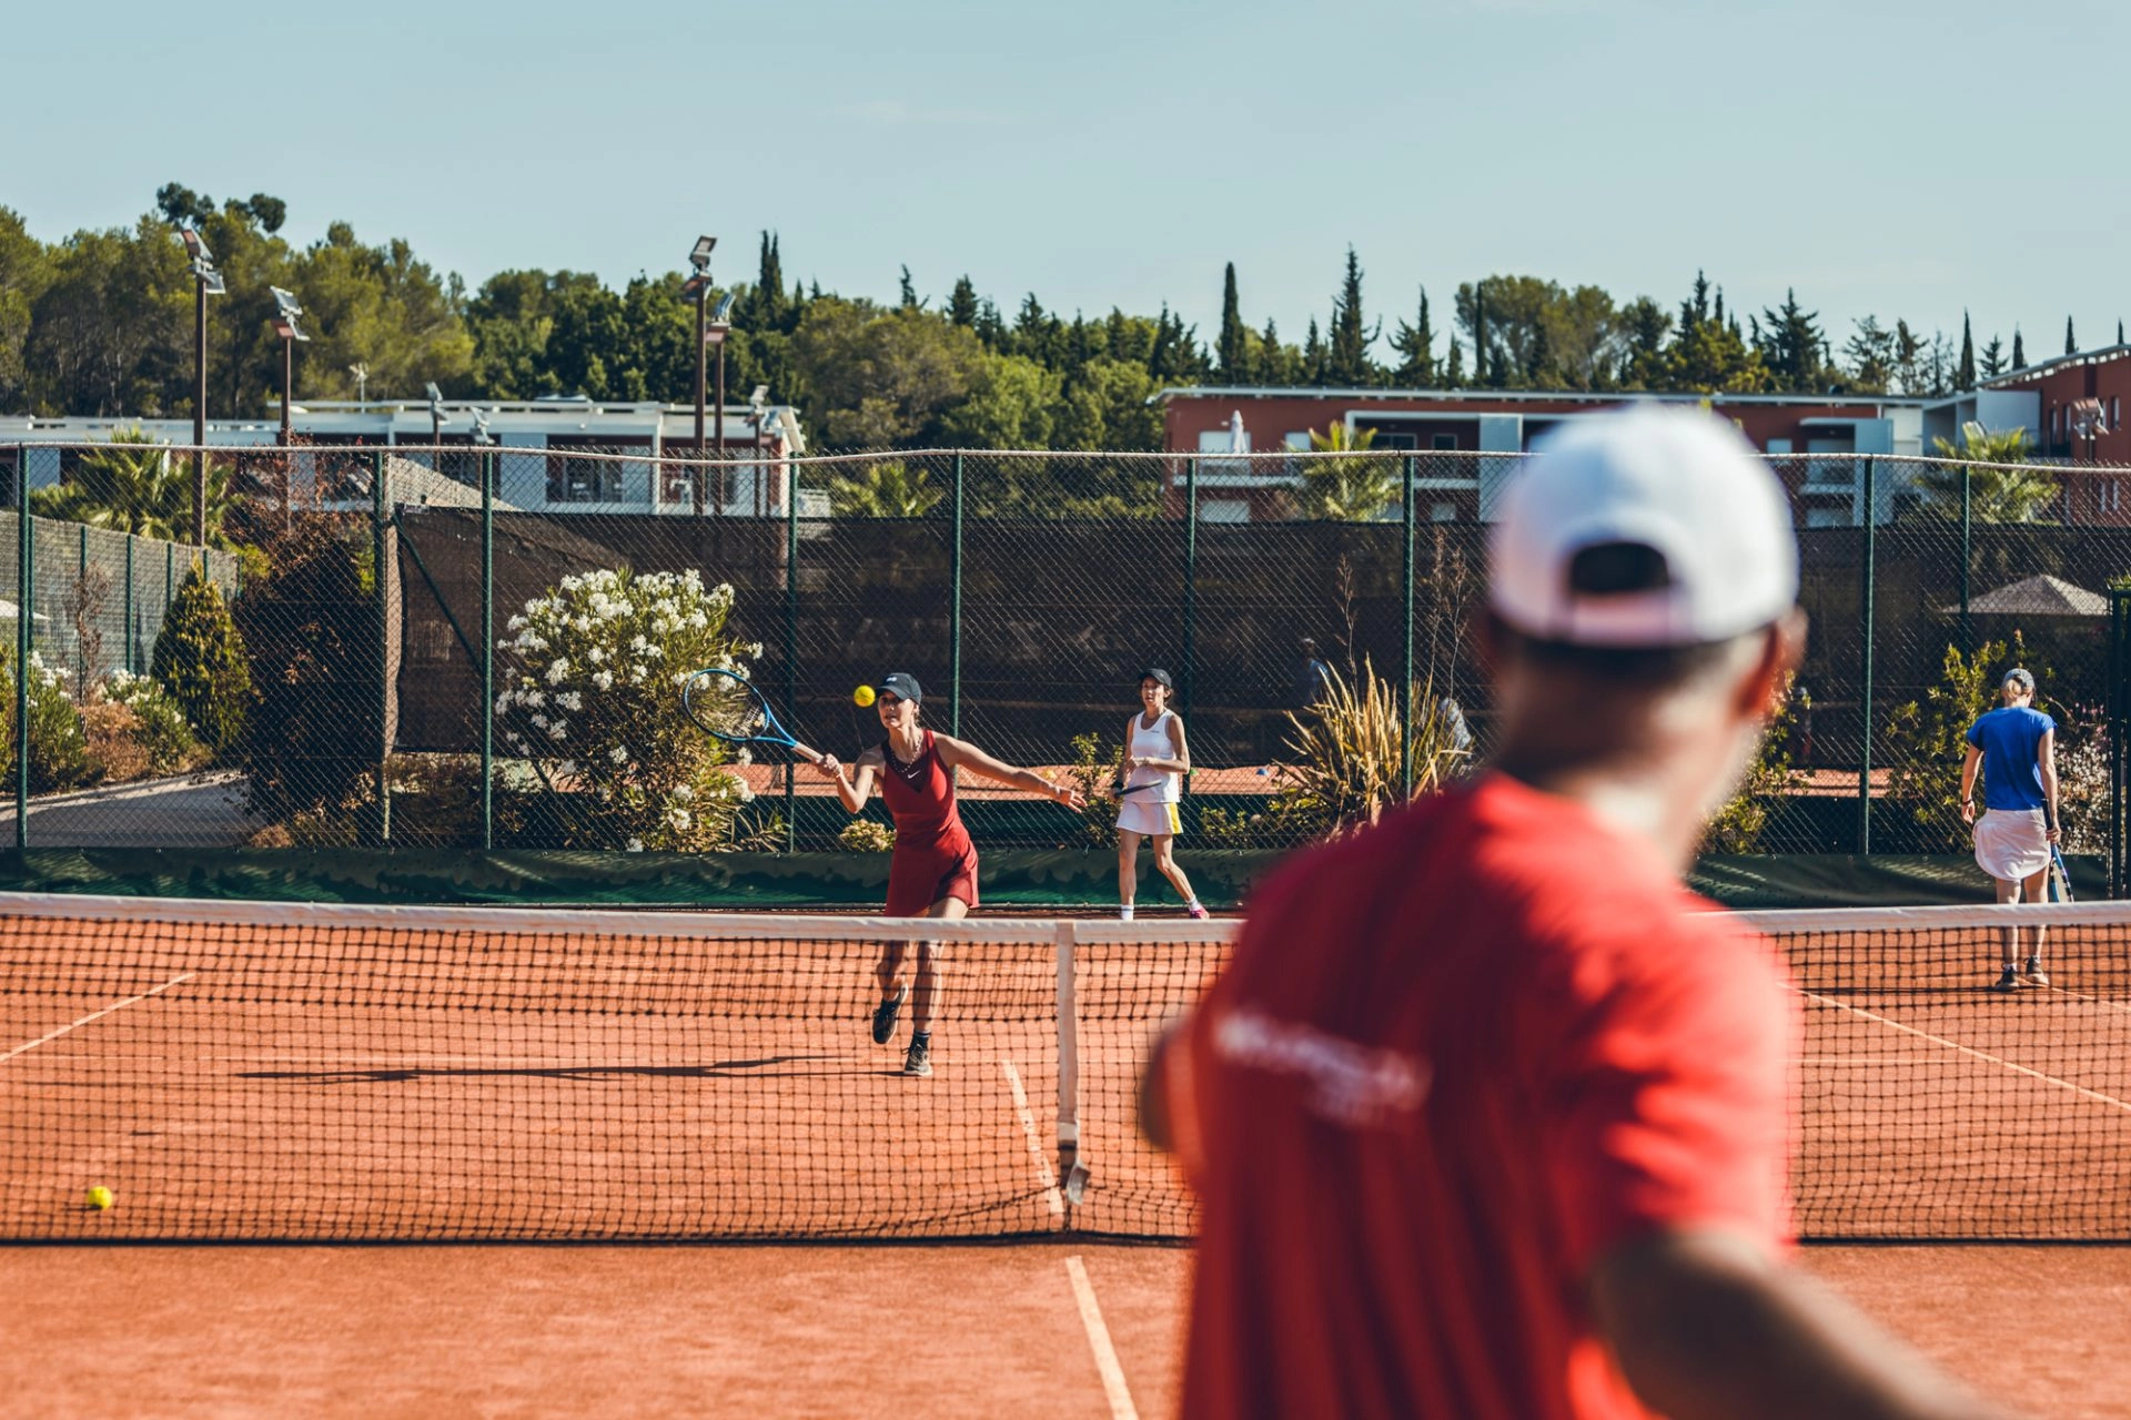
[[[473, 488], [479, 488], [475, 432], [484, 430], [497, 453], [497, 498], [526, 511], [699, 511], [690, 468], [654, 462], [695, 453], [695, 404], [445, 400], [441, 413], [445, 424], [439, 430], [428, 400], [313, 400], [298, 404], [290, 424], [298, 445], [394, 449], [405, 464]], [[9, 445], [17, 445], [30, 488], [51, 488], [90, 445], [132, 428], [168, 445], [192, 443], [192, 419], [15, 417], [0, 419], [0, 462], [13, 464]], [[266, 451], [279, 436], [277, 419], [207, 424], [211, 447]], [[791, 460], [801, 453], [806, 436], [799, 411], [791, 404], [727, 404], [727, 462], [705, 477], [701, 511], [729, 517], [782, 515]], [[296, 458], [303, 462], [300, 453]]]

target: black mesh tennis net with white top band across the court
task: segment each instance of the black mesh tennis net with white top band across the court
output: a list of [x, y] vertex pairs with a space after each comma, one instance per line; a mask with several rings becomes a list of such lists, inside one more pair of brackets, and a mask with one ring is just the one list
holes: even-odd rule
[[[1807, 1237], [2131, 1237], [2131, 907], [1752, 920]], [[0, 1237], [1189, 1237], [1134, 1090], [1234, 926], [0, 896]]]

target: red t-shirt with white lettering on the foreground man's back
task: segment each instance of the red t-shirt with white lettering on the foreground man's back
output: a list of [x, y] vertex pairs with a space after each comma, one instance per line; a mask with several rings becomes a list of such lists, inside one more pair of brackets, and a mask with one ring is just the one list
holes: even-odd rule
[[1703, 907], [1502, 775], [1283, 869], [1166, 1056], [1204, 1205], [1185, 1416], [1643, 1416], [1592, 1265], [1788, 1231], [1796, 1007]]

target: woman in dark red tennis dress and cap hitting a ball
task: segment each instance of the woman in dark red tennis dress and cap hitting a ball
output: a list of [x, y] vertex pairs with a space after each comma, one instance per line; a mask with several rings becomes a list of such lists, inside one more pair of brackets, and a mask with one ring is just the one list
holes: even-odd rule
[[[874, 707], [880, 713], [880, 728], [889, 737], [865, 749], [850, 775], [844, 773], [835, 756], [825, 756], [816, 769], [835, 783], [835, 796], [850, 813], [865, 807], [874, 781], [880, 781], [880, 798], [895, 815], [889, 915], [953, 922], [976, 907], [976, 845], [970, 841], [970, 830], [961, 826], [961, 811], [955, 807], [955, 771], [967, 769], [987, 779], [1044, 794], [1072, 809], [1080, 807], [1080, 792], [1059, 788], [1031, 769], [1004, 764], [967, 741], [933, 734], [918, 724], [921, 698], [923, 692], [914, 675], [897, 671], [882, 677]], [[874, 975], [880, 977], [874, 1043], [889, 1043], [908, 998], [910, 1050], [904, 1054], [904, 1073], [931, 1075], [931, 1018], [940, 1005], [940, 943], [918, 943], [918, 969], [910, 988], [901, 984], [901, 973], [904, 943], [884, 943], [880, 964], [874, 969]]]

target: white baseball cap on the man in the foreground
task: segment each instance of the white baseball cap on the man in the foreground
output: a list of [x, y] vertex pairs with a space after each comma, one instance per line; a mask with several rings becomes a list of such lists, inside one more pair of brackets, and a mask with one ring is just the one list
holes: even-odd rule
[[[1581, 592], [1577, 556], [1647, 547], [1660, 585]], [[1728, 641], [1799, 600], [1799, 539], [1784, 485], [1707, 413], [1641, 407], [1539, 441], [1502, 494], [1487, 600], [1536, 641], [1658, 649]]]

